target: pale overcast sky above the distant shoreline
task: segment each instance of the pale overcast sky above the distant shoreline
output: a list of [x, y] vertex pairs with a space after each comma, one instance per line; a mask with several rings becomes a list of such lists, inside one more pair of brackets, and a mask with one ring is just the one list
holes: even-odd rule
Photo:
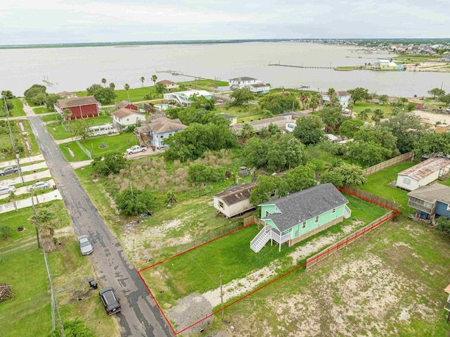
[[1, 0], [0, 45], [448, 38], [448, 0]]

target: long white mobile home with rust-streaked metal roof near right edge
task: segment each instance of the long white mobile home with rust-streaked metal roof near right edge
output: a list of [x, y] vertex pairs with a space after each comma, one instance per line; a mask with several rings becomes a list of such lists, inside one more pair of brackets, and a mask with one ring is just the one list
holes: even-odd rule
[[420, 186], [428, 185], [450, 171], [450, 159], [430, 158], [397, 175], [397, 187], [414, 191]]

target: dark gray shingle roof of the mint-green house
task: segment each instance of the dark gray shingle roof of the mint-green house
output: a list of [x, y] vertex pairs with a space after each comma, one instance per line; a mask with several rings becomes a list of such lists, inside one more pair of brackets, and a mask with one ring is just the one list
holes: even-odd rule
[[281, 211], [281, 213], [263, 217], [262, 220], [271, 219], [280, 231], [285, 231], [348, 202], [333, 184], [320, 184], [262, 203], [261, 205], [276, 205]]

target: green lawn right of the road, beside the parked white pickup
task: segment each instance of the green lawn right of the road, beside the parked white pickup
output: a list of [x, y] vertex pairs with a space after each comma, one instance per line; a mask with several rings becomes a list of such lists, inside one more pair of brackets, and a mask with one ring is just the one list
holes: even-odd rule
[[[133, 145], [139, 145], [136, 137], [133, 136], [133, 133], [122, 133], [114, 136], [98, 136], [94, 138], [86, 139], [86, 141], [79, 141], [84, 148], [91, 152], [92, 157], [94, 158], [96, 155], [104, 155], [106, 153], [111, 152], [120, 152], [125, 153], [125, 150]], [[101, 143], [106, 143], [108, 148], [99, 148], [98, 146]], [[71, 141], [70, 143], [60, 144], [59, 148], [63, 153], [66, 160], [79, 161], [79, 160], [89, 160], [89, 157], [79, 148], [78, 144], [75, 141]], [[72, 150], [75, 154], [75, 157], [70, 155], [70, 151], [68, 148]]]

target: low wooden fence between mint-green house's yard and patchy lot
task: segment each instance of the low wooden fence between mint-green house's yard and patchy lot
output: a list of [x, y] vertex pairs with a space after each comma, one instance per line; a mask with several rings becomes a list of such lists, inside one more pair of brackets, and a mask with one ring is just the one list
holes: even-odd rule
[[361, 236], [366, 235], [368, 232], [372, 231], [373, 229], [380, 226], [380, 224], [383, 224], [387, 222], [388, 220], [392, 219], [397, 215], [397, 212], [394, 210], [391, 210], [387, 214], [383, 215], [383, 217], [379, 217], [377, 220], [371, 222], [366, 227], [358, 229], [357, 231], [354, 231], [349, 236], [346, 236], [344, 239], [336, 242], [333, 244], [333, 246], [330, 246], [324, 250], [322, 250], [320, 253], [317, 253], [316, 255], [309, 257], [307, 260], [305, 267], [306, 269], [316, 265], [317, 262], [320, 262], [321, 260], [326, 259], [328, 256], [330, 256], [333, 253], [336, 253], [341, 248], [344, 248], [349, 243], [352, 243], [356, 239], [360, 238]]

